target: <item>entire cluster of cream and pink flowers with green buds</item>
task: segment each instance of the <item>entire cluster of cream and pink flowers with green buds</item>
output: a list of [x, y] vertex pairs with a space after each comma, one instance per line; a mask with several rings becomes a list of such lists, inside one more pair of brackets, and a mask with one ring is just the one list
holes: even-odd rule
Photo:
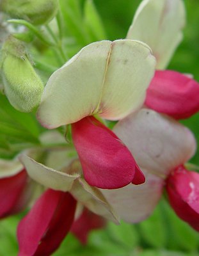
[[[3, 12], [32, 30], [58, 11], [58, 1], [15, 2], [2, 1]], [[45, 88], [22, 38], [4, 42], [4, 93], [19, 111], [39, 105], [42, 125], [36, 148], [0, 159], [0, 218], [29, 209], [17, 228], [20, 256], [51, 255], [69, 231], [86, 243], [106, 220], [145, 220], [164, 189], [179, 218], [199, 231], [199, 174], [186, 168], [196, 141], [179, 122], [198, 112], [199, 84], [165, 70], [184, 23], [181, 0], [143, 0], [127, 38], [86, 45]]]

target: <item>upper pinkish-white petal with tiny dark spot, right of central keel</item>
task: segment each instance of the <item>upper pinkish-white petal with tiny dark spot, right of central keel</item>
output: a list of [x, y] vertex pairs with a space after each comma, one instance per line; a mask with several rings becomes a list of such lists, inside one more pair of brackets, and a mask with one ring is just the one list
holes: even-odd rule
[[196, 142], [189, 129], [150, 109], [127, 116], [114, 127], [141, 170], [166, 177], [195, 153]]

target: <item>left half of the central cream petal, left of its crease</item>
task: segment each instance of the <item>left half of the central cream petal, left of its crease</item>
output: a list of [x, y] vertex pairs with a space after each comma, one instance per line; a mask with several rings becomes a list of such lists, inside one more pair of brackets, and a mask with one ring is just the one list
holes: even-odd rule
[[52, 74], [38, 109], [41, 124], [51, 129], [92, 115], [99, 104], [111, 41], [84, 47]]

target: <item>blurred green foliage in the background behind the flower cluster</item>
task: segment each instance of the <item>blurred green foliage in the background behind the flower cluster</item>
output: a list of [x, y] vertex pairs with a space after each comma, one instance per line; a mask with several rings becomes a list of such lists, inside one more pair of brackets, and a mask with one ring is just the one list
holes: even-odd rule
[[[26, 32], [27, 35], [18, 35], [18, 37], [24, 41], [34, 38], [34, 47], [29, 45], [29, 48], [38, 73], [44, 81], [47, 81], [56, 68], [84, 45], [96, 40], [125, 38], [140, 2], [140, 0], [60, 0], [62, 12], [58, 13], [56, 36], [51, 33], [51, 28], [55, 26], [52, 21], [51, 26], [42, 30], [36, 28], [35, 32], [35, 28], [27, 24], [31, 28], [28, 34]], [[184, 40], [168, 68], [193, 74], [199, 81], [198, 0], [185, 0], [184, 3], [187, 10]], [[45, 44], [45, 40], [48, 39], [52, 42], [51, 47]], [[45, 54], [41, 54], [42, 52]], [[54, 56], [57, 57], [56, 60]], [[14, 156], [19, 148], [21, 150], [21, 147], [27, 146], [27, 141], [31, 145], [37, 145], [38, 134], [42, 128], [36, 122], [35, 116], [15, 111], [3, 95], [0, 96], [0, 104], [0, 156], [5, 158]], [[198, 120], [199, 113], [184, 120], [183, 123], [195, 133], [199, 143]], [[199, 165], [199, 150], [191, 163]], [[19, 217], [13, 216], [0, 222], [0, 256], [17, 255], [15, 230]], [[135, 225], [122, 223], [116, 226], [108, 223], [104, 230], [95, 230], [90, 234], [87, 246], [82, 246], [72, 234], [69, 234], [53, 255], [196, 256], [199, 255], [198, 249], [199, 234], [179, 220], [168, 203], [161, 200], [148, 220]]]

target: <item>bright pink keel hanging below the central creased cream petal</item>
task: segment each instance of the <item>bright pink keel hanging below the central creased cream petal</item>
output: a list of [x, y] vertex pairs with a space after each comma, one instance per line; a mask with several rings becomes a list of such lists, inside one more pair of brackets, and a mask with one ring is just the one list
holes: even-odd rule
[[[115, 189], [132, 182], [136, 161], [131, 152], [93, 116], [72, 124], [72, 138], [88, 184]], [[139, 179], [136, 179], [136, 184], [138, 182]]]

